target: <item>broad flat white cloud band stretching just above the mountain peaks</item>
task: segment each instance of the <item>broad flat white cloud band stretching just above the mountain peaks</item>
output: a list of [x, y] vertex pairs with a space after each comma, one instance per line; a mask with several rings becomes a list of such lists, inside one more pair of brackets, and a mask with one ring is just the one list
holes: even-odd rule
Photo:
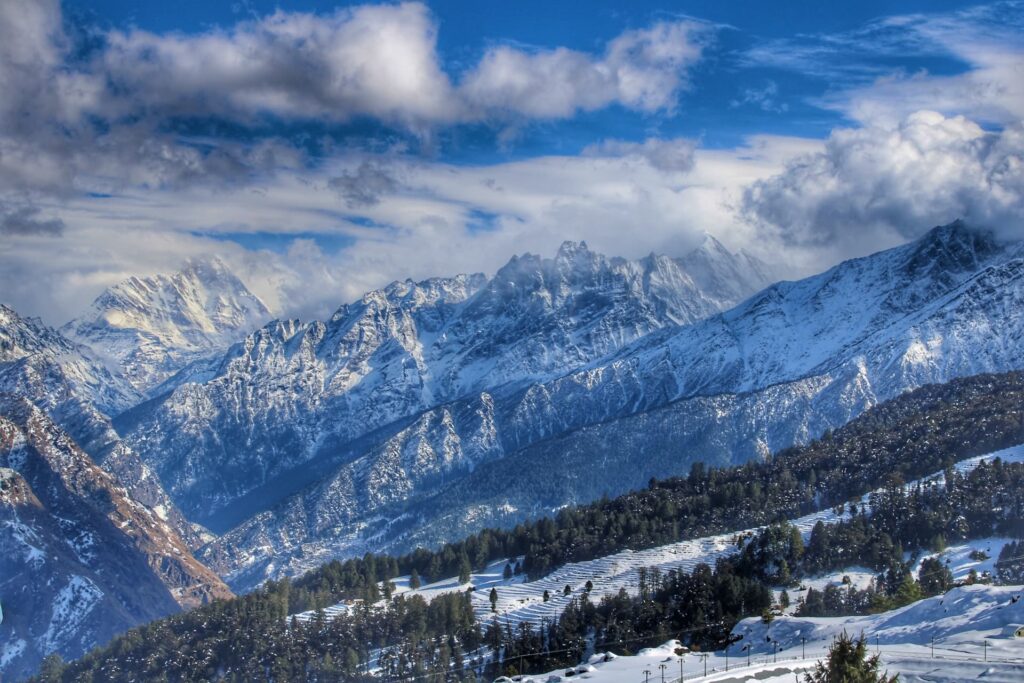
[[[732, 151], [662, 143], [670, 159], [681, 150], [692, 168], [683, 172], [677, 160], [660, 168], [650, 163], [644, 155], [656, 158], [658, 142], [647, 140], [624, 154], [481, 166], [364, 156], [285, 171], [265, 185], [73, 198], [40, 207], [41, 215], [62, 218], [63, 237], [25, 237], [0, 253], [0, 290], [16, 308], [61, 324], [126, 274], [219, 253], [279, 313], [308, 318], [392, 280], [494, 271], [512, 254], [554, 254], [569, 239], [639, 257], [684, 253], [711, 231], [764, 253], [732, 207], [745, 184], [779, 172], [808, 143], [765, 137]], [[331, 180], [358, 176], [362, 164], [386, 168], [401, 182], [360, 206], [365, 220], [353, 222]], [[288, 248], [243, 249], [229, 241], [239, 232], [276, 234]], [[325, 253], [310, 234], [343, 236], [351, 244]]]

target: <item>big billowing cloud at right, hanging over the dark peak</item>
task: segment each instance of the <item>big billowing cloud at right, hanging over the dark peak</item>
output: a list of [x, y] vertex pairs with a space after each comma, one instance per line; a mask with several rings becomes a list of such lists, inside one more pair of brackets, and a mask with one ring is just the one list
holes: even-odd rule
[[1024, 126], [988, 132], [918, 112], [898, 126], [834, 131], [744, 194], [748, 217], [787, 244], [862, 252], [963, 217], [1024, 233]]

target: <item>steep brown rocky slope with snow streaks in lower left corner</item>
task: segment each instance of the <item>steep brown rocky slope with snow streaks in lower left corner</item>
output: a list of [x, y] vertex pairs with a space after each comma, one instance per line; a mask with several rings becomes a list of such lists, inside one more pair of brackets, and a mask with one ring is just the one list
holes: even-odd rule
[[[229, 592], [45, 413], [0, 394], [2, 674]], [[7, 656], [7, 655], [10, 656]]]

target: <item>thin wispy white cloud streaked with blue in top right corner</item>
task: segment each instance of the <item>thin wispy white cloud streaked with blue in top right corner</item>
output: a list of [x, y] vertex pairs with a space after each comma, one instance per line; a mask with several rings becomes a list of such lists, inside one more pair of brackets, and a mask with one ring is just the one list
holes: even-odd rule
[[[815, 76], [830, 89], [812, 102], [864, 125], [897, 126], [932, 110], [993, 125], [1024, 119], [1024, 3], [993, 2], [951, 12], [887, 16], [856, 30], [756, 45], [744, 66]], [[894, 67], [958, 62], [956, 73]], [[937, 62], [941, 63], [941, 62]]]

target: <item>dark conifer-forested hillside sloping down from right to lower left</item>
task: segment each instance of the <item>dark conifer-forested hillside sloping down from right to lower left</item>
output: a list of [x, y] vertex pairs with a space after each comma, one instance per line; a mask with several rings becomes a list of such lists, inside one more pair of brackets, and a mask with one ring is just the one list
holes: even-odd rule
[[[298, 580], [268, 582], [250, 595], [134, 629], [69, 667], [48, 663], [45, 677], [129, 680], [135, 675], [132, 667], [141, 666], [171, 672], [166, 680], [286, 680], [272, 672], [290, 660], [289, 648], [295, 645], [289, 614], [345, 598], [378, 600], [382, 590], [388, 592], [387, 580], [414, 570], [425, 581], [436, 580], [524, 555], [525, 569], [539, 575], [563, 562], [830, 507], [1024, 441], [1022, 399], [1024, 374], [1017, 372], [924, 387], [767, 462], [694, 467], [685, 478], [654, 481], [645, 490], [567, 508], [511, 530], [485, 530], [436, 552], [332, 562]], [[456, 645], [466, 652], [481, 643], [481, 625], [473, 622], [466, 595], [442, 596], [430, 605], [399, 596], [393, 605], [386, 612], [360, 610], [357, 620], [322, 625], [323, 638], [349, 643], [346, 671], [356, 671], [369, 651], [382, 645], [400, 642], [432, 659], [437, 652], [455, 657]]]

